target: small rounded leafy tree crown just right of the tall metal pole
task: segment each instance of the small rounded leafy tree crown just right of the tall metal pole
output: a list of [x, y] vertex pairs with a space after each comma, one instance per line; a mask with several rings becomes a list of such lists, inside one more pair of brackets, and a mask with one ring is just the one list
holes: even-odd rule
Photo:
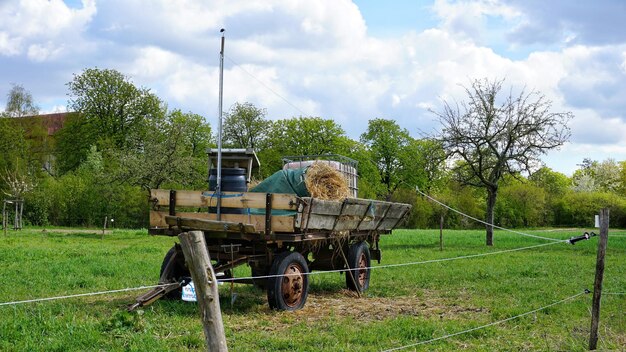
[[224, 145], [232, 148], [259, 149], [271, 128], [267, 111], [252, 103], [235, 103], [224, 118]]

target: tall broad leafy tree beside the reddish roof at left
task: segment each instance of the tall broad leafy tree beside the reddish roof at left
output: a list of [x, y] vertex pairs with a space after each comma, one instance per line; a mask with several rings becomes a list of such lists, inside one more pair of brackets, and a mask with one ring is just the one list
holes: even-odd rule
[[149, 89], [137, 88], [116, 70], [90, 68], [67, 84], [69, 110], [84, 118], [82, 144], [109, 139], [118, 149], [134, 147], [145, 132], [144, 124], [162, 119], [165, 108]]

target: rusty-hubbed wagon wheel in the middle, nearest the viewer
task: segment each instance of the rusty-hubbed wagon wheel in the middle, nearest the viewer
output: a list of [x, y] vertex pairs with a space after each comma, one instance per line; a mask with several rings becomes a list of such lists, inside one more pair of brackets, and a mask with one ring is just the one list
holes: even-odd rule
[[[276, 310], [298, 310], [304, 306], [309, 289], [309, 269], [298, 252], [285, 252], [276, 256], [267, 280], [267, 301]], [[284, 276], [282, 276], [284, 275]]]

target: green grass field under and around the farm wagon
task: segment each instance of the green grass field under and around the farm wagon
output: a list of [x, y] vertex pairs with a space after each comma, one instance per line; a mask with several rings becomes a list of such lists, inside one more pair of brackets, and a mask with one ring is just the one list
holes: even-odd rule
[[[535, 230], [569, 238], [583, 230]], [[612, 237], [614, 236], [614, 237]], [[57, 233], [28, 229], [0, 234], [0, 303], [152, 285], [175, 238], [145, 230]], [[447, 258], [526, 247], [545, 241], [497, 231], [398, 230], [381, 241], [384, 264]], [[270, 311], [265, 292], [220, 287], [231, 351], [380, 351], [506, 319], [591, 289], [597, 238], [495, 254], [372, 271], [357, 298], [340, 274], [311, 276], [297, 312]], [[249, 275], [247, 267], [236, 271]], [[604, 292], [626, 291], [626, 231], [611, 230]], [[158, 301], [127, 313], [142, 291], [0, 306], [1, 351], [203, 350], [197, 306]], [[405, 351], [583, 351], [589, 338], [591, 295], [583, 295], [503, 324]], [[626, 295], [602, 300], [600, 350], [626, 346]]]

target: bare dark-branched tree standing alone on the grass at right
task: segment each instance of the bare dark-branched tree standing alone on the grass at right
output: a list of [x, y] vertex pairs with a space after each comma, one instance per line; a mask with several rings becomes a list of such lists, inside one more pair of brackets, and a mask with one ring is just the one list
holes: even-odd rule
[[[454, 158], [455, 175], [464, 185], [487, 191], [486, 222], [493, 224], [498, 184], [506, 175], [530, 172], [539, 157], [570, 137], [571, 112], [551, 112], [545, 95], [522, 90], [500, 98], [504, 80], [476, 79], [463, 87], [467, 102], [444, 101], [435, 112], [442, 125], [436, 137]], [[493, 245], [493, 226], [486, 226], [486, 242]]]

